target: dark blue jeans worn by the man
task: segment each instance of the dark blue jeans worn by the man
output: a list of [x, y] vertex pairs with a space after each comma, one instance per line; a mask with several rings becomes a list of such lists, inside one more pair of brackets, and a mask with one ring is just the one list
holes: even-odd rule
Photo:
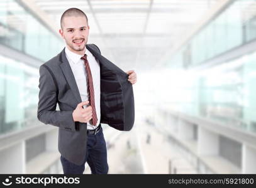
[[103, 128], [96, 135], [87, 135], [86, 159], [84, 164], [75, 165], [60, 156], [64, 174], [83, 174], [84, 164], [87, 162], [91, 168], [91, 174], [108, 174], [107, 149], [103, 135]]

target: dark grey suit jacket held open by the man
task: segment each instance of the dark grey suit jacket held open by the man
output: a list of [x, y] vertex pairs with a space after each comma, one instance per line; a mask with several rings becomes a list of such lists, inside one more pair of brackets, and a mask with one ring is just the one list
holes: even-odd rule
[[[86, 44], [100, 65], [101, 123], [117, 130], [131, 130], [135, 119], [133, 88], [128, 75], [101, 55], [95, 44]], [[81, 165], [86, 156], [87, 123], [74, 122], [72, 112], [81, 96], [62, 50], [40, 66], [37, 118], [58, 127], [58, 150], [65, 159]], [[56, 110], [58, 107], [60, 110]]]

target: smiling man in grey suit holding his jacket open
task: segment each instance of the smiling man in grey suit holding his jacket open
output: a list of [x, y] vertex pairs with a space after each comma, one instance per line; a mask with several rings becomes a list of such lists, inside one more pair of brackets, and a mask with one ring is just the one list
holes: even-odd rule
[[66, 46], [40, 66], [37, 117], [58, 127], [64, 174], [82, 174], [86, 162], [92, 174], [108, 174], [101, 123], [131, 130], [136, 73], [123, 72], [95, 44], [87, 44], [88, 19], [80, 9], [67, 9], [60, 24]]

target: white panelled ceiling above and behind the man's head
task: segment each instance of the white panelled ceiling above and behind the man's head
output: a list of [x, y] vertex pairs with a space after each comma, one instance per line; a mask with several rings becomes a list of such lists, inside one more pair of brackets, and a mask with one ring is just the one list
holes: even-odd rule
[[191, 26], [221, 0], [35, 0], [60, 26], [79, 8], [89, 19], [89, 43], [123, 70], [150, 70]]

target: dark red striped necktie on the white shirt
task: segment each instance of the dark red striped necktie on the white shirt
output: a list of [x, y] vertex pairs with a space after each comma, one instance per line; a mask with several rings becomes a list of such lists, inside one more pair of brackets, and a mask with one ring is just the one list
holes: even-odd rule
[[95, 102], [94, 102], [94, 89], [93, 89], [93, 81], [92, 81], [92, 73], [90, 70], [90, 66], [87, 60], [87, 55], [85, 54], [81, 58], [84, 60], [84, 66], [86, 67], [86, 73], [87, 73], [87, 91], [89, 91], [89, 105], [92, 107], [92, 125], [96, 125], [97, 123], [97, 114], [96, 114], [96, 108], [95, 108]]

